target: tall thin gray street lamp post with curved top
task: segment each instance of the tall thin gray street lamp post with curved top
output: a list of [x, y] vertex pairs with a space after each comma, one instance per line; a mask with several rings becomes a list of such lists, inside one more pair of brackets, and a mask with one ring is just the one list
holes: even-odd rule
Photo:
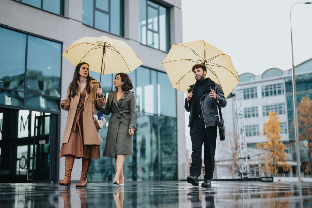
[[[312, 2], [297, 2], [295, 4], [312, 4]], [[295, 66], [294, 66], [294, 51], [293, 51], [293, 30], [292, 30], [292, 9], [290, 10], [290, 23], [291, 23], [291, 43], [292, 43], [292, 79], [293, 79], [293, 105], [294, 105], [294, 124], [295, 124], [295, 141], [296, 141], [296, 155], [297, 155], [297, 173], [298, 181], [301, 181], [300, 171], [300, 152], [299, 152], [299, 131], [298, 131], [298, 118], [297, 118], [297, 97], [296, 97], [296, 80], [295, 80]]]

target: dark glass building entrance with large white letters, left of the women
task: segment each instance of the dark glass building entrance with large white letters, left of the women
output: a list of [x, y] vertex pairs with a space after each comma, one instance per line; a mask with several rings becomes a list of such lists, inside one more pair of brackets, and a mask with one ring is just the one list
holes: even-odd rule
[[56, 181], [58, 115], [0, 108], [0, 182]]

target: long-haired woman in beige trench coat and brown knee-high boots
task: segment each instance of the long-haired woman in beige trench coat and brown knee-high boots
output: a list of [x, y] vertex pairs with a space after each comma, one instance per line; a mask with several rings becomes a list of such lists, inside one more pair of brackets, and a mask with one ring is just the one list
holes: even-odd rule
[[91, 158], [99, 158], [100, 134], [95, 127], [93, 113], [102, 108], [105, 98], [99, 82], [89, 76], [89, 65], [79, 63], [68, 86], [61, 108], [68, 110], [59, 157], [65, 156], [65, 177], [60, 185], [70, 186], [75, 158], [82, 158], [81, 178], [76, 187], [85, 187]]

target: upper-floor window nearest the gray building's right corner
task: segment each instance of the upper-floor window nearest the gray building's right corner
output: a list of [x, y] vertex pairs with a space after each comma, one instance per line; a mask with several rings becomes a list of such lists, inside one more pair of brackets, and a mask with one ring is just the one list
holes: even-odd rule
[[162, 51], [170, 49], [169, 8], [147, 0], [140, 0], [140, 43]]

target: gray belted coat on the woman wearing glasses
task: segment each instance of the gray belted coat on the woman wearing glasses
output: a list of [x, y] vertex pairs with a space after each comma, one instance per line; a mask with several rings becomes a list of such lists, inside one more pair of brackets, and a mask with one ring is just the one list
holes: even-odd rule
[[102, 112], [105, 115], [112, 113], [103, 156], [114, 158], [118, 154], [132, 155], [132, 136], [129, 136], [129, 128], [136, 130], [136, 98], [134, 93], [124, 92], [117, 102], [116, 90], [110, 92]]

